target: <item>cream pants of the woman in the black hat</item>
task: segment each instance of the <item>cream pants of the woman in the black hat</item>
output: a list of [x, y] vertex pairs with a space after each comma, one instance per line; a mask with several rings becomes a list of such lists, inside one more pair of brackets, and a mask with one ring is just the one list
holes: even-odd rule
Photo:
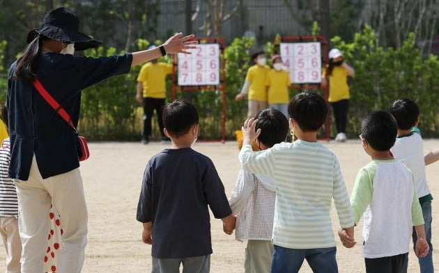
[[44, 272], [51, 203], [61, 215], [63, 229], [62, 245], [56, 252], [56, 273], [81, 272], [87, 243], [87, 209], [79, 168], [43, 179], [33, 156], [29, 180], [15, 180], [15, 185], [22, 273]]

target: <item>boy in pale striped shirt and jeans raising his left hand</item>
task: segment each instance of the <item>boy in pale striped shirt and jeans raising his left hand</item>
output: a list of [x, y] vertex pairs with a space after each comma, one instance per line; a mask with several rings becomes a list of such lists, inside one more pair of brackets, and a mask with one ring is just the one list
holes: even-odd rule
[[304, 259], [314, 272], [338, 272], [330, 219], [332, 199], [341, 228], [353, 237], [353, 215], [335, 154], [317, 142], [328, 108], [318, 94], [297, 94], [288, 104], [291, 131], [298, 138], [265, 151], [252, 152], [257, 119], [247, 119], [239, 159], [254, 174], [275, 179], [276, 205], [272, 273], [298, 272]]

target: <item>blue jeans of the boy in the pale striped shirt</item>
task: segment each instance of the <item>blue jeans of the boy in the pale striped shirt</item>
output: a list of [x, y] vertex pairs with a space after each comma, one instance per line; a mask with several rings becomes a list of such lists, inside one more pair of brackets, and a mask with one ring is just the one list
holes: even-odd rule
[[323, 249], [288, 249], [275, 245], [271, 273], [297, 273], [307, 259], [314, 273], [338, 273], [335, 247]]

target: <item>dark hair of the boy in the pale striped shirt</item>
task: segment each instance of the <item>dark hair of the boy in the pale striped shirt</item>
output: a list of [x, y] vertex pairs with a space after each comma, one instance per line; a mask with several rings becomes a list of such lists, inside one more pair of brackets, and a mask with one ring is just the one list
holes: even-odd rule
[[302, 131], [318, 131], [326, 121], [328, 106], [319, 94], [302, 92], [291, 99], [288, 115], [298, 123]]

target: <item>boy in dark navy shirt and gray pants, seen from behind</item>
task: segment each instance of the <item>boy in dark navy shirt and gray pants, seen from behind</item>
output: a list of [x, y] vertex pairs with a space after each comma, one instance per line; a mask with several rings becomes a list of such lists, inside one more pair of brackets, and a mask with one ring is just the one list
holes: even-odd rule
[[212, 161], [191, 149], [199, 129], [197, 108], [174, 101], [165, 106], [163, 122], [171, 148], [146, 165], [137, 207], [142, 240], [153, 246], [153, 273], [178, 272], [180, 263], [185, 272], [209, 272], [208, 205], [225, 233], [233, 232], [236, 219]]

